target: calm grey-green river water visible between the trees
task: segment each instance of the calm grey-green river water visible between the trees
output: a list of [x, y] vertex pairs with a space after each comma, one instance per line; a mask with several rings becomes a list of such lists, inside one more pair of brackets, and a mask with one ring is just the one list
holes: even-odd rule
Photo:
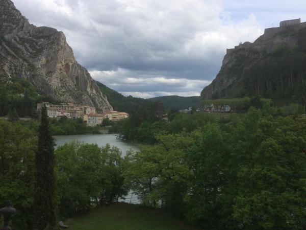
[[[71, 141], [80, 141], [88, 144], [97, 144], [99, 147], [105, 146], [106, 144], [110, 144], [111, 146], [118, 147], [121, 152], [122, 156], [125, 155], [127, 150], [135, 150], [137, 151], [138, 148], [135, 145], [132, 145], [130, 143], [126, 143], [123, 141], [120, 141], [116, 138], [116, 135], [114, 134], [84, 134], [84, 135], [64, 135], [64, 136], [53, 136], [55, 139], [55, 144], [57, 148], [58, 146], [62, 146], [65, 143], [69, 143]], [[132, 197], [132, 199], [131, 199]], [[130, 192], [125, 199], [120, 200], [127, 203], [140, 203], [137, 196], [133, 195], [132, 192]]]

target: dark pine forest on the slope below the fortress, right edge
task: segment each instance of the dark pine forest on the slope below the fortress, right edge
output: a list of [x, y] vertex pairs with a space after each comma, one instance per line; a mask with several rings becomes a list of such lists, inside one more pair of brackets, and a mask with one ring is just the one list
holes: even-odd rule
[[261, 95], [276, 101], [290, 99], [306, 104], [306, 46], [279, 49], [264, 57], [244, 73], [249, 95]]

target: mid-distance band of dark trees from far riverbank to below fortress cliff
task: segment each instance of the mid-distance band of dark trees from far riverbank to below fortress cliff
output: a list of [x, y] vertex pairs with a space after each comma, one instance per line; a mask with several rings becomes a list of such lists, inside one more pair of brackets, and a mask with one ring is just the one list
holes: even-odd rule
[[[232, 120], [239, 119], [250, 107], [267, 111], [272, 116], [288, 116], [304, 113], [303, 107], [298, 104], [277, 107], [272, 106], [271, 99], [257, 97], [203, 100], [200, 102], [200, 108], [210, 107], [212, 104], [217, 107], [230, 105], [232, 112], [208, 113], [191, 110], [188, 113], [183, 113], [177, 109], [170, 109], [168, 111], [169, 121], [165, 121], [156, 115], [152, 116], [152, 114], [158, 114], [158, 107], [150, 107], [150, 109], [146, 110], [142, 108], [133, 111], [128, 119], [113, 123], [110, 131], [119, 133], [124, 140], [136, 143], [155, 144], [157, 143], [157, 133], [179, 133], [183, 130], [190, 132], [201, 127], [205, 121], [222, 124], [228, 123]], [[162, 106], [159, 108], [162, 109]], [[159, 111], [161, 113], [161, 110]]]

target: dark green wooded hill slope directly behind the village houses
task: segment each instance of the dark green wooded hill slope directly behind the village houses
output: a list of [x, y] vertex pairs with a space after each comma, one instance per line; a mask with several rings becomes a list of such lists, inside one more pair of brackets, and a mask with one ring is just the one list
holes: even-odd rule
[[107, 96], [108, 101], [113, 106], [114, 110], [132, 112], [139, 106], [149, 106], [152, 103], [143, 98], [134, 98], [132, 96], [125, 97], [116, 90], [107, 87], [106, 85], [96, 81], [100, 91]]

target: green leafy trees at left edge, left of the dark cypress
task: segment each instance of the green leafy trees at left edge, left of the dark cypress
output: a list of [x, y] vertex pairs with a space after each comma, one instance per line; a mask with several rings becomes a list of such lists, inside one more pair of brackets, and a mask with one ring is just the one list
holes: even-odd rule
[[0, 200], [17, 209], [14, 229], [32, 229], [37, 140], [33, 132], [20, 125], [0, 120]]

